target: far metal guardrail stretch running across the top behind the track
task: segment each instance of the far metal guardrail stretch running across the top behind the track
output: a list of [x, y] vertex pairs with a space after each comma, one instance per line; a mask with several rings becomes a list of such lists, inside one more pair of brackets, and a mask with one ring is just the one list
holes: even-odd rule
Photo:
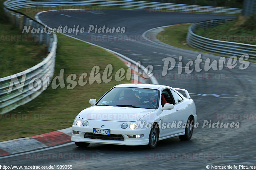
[[170, 3], [156, 3], [145, 1], [132, 0], [12, 0], [6, 3], [11, 9], [18, 9], [22, 7], [32, 6], [65, 6], [65, 5], [88, 5], [88, 6], [112, 6], [124, 8], [140, 8], [148, 9], [151, 12], [164, 11], [188, 11], [188, 12], [209, 12], [209, 13], [224, 13], [224, 14], [238, 14], [242, 9], [238, 8], [223, 8], [213, 6], [199, 6], [199, 5], [185, 5], [185, 4], [170, 4]]

